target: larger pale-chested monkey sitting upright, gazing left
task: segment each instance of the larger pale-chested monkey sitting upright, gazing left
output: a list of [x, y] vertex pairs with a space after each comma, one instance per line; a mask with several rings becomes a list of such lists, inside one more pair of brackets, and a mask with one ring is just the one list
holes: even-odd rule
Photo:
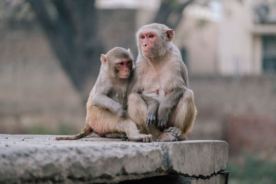
[[174, 31], [166, 25], [144, 25], [136, 34], [138, 57], [128, 96], [128, 114], [141, 133], [154, 141], [185, 140], [195, 121], [193, 91]]

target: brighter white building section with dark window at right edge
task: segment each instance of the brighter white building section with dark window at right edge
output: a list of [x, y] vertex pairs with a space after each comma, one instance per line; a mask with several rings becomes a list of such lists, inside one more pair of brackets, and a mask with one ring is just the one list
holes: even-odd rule
[[219, 68], [224, 74], [276, 72], [275, 1], [224, 2]]

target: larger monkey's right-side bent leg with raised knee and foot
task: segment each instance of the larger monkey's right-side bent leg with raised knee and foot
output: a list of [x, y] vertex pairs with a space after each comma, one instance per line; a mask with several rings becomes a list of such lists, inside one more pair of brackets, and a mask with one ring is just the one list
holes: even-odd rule
[[[173, 123], [172, 126], [175, 128], [168, 128], [167, 131], [177, 134], [179, 141], [186, 140], [186, 134], [192, 130], [196, 115], [197, 108], [195, 108], [193, 91], [186, 90], [181, 99], [179, 99], [174, 112], [172, 112], [170, 122]], [[179, 136], [179, 134], [181, 135]]]

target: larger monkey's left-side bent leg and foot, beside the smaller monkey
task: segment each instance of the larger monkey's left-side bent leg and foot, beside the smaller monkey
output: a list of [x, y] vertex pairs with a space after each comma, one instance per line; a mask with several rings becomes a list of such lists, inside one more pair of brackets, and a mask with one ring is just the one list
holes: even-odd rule
[[148, 105], [137, 93], [128, 96], [128, 115], [135, 122], [141, 133], [152, 134], [153, 141], [176, 141], [171, 132], [161, 132], [156, 125], [146, 126]]

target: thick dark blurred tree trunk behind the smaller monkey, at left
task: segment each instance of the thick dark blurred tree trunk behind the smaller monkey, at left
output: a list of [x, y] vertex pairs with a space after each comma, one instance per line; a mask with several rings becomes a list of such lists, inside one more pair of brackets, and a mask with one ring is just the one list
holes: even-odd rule
[[97, 34], [95, 0], [27, 1], [84, 103], [88, 98], [86, 80], [97, 74], [103, 51]]

